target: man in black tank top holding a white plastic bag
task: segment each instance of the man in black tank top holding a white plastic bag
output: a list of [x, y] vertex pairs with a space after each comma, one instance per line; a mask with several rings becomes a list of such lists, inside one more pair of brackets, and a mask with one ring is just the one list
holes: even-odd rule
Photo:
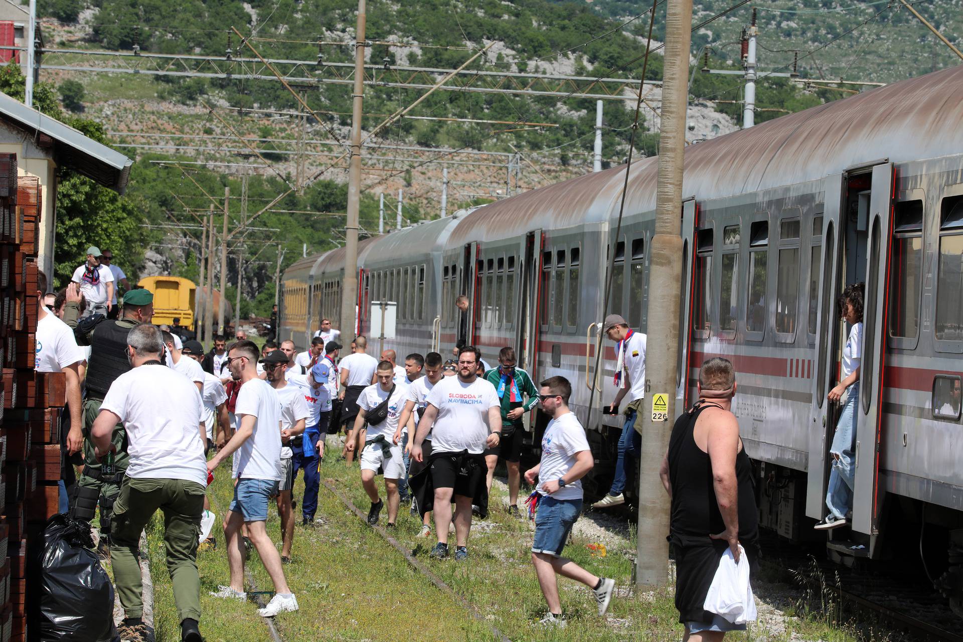
[[713, 358], [699, 370], [699, 400], [672, 428], [660, 476], [672, 501], [669, 543], [676, 560], [675, 605], [687, 640], [721, 640], [744, 630], [703, 609], [719, 559], [740, 545], [750, 566], [758, 552], [759, 524], [752, 465], [732, 414], [736, 372]]

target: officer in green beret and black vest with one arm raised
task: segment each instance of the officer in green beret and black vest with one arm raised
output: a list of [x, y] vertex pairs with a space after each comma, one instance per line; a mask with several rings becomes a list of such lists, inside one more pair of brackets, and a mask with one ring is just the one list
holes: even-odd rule
[[[74, 299], [74, 300], [71, 300]], [[91, 442], [91, 427], [100, 412], [107, 391], [114, 380], [131, 370], [127, 360], [127, 333], [139, 323], [149, 323], [154, 315], [154, 295], [149, 290], [130, 290], [123, 296], [123, 311], [115, 320], [97, 316], [91, 322], [77, 321], [79, 296], [67, 296], [64, 321], [74, 328], [78, 343], [91, 347], [87, 364], [87, 397], [84, 399], [84, 472], [78, 477], [70, 497], [70, 513], [91, 521], [94, 508], [100, 503], [99, 552], [106, 554], [111, 534], [114, 501], [120, 492], [120, 482], [127, 470], [127, 436], [117, 424], [111, 439], [116, 447], [113, 456], [99, 461]]]

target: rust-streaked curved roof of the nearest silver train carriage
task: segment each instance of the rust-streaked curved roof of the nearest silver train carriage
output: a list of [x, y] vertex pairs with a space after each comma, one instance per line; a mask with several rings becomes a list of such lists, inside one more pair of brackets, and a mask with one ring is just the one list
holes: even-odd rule
[[[768, 120], [686, 147], [683, 193], [699, 200], [818, 180], [858, 164], [963, 151], [963, 65]], [[625, 214], [656, 207], [658, 157], [633, 163]], [[514, 238], [618, 216], [625, 166], [485, 205], [449, 246]]]

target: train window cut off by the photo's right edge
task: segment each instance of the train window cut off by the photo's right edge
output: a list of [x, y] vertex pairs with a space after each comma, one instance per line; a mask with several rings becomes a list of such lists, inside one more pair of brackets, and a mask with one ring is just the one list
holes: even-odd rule
[[963, 196], [944, 198], [936, 285], [936, 338], [963, 341]]

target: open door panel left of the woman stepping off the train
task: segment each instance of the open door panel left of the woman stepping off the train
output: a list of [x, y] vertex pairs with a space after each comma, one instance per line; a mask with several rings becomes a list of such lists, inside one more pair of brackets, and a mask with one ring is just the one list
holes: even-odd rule
[[838, 408], [826, 401], [836, 384], [836, 351], [840, 323], [836, 318], [843, 267], [840, 252], [840, 217], [843, 211], [844, 174], [825, 179], [820, 252], [820, 293], [816, 330], [816, 372], [813, 373], [813, 401], [809, 423], [809, 472], [806, 478], [806, 515], [821, 520], [826, 516], [827, 459]]

